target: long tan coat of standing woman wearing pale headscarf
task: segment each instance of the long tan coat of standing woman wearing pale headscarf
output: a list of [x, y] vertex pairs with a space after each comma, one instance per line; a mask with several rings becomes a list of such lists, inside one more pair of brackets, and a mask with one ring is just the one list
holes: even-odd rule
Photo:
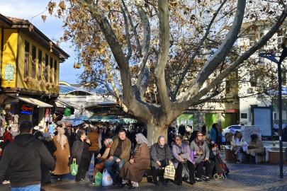
[[55, 175], [64, 175], [69, 173], [69, 143], [68, 139], [66, 141], [66, 144], [64, 144], [64, 149], [62, 150], [62, 147], [60, 143], [57, 141], [57, 136], [65, 136], [64, 134], [57, 134], [53, 137], [54, 143], [57, 147], [57, 151], [55, 151], [54, 155], [56, 156], [56, 168], [55, 168]]

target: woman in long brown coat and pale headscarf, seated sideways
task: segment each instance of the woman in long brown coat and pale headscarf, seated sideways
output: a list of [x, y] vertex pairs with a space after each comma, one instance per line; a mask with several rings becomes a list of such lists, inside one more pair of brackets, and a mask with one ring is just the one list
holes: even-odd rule
[[123, 183], [120, 186], [131, 181], [132, 185], [129, 188], [138, 188], [140, 181], [142, 181], [142, 175], [145, 172], [145, 168], [150, 166], [150, 144], [147, 138], [141, 133], [135, 135], [135, 150], [130, 158], [129, 163], [125, 163], [120, 170], [120, 178], [123, 178]]

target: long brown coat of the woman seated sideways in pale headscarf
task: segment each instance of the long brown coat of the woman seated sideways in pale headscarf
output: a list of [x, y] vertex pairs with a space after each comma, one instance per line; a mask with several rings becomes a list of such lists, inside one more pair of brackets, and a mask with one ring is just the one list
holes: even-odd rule
[[120, 170], [119, 176], [120, 178], [139, 183], [142, 181], [145, 168], [150, 166], [150, 149], [147, 144], [143, 143], [137, 146], [135, 154], [133, 154], [133, 161], [135, 161], [133, 164], [130, 162], [125, 163], [122, 170]]

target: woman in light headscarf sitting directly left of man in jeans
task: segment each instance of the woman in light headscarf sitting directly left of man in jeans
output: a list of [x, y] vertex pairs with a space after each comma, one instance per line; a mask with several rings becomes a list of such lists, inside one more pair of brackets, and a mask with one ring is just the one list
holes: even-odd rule
[[105, 139], [103, 144], [105, 145], [106, 149], [104, 150], [105, 152], [103, 154], [101, 154], [101, 151], [100, 151], [100, 154], [98, 154], [97, 156], [97, 158], [99, 158], [99, 161], [97, 161], [98, 163], [96, 163], [96, 166], [94, 168], [93, 183], [95, 182], [96, 173], [99, 173], [101, 170], [103, 170], [103, 168], [105, 168], [105, 162], [108, 159], [108, 154], [110, 153], [111, 146], [113, 145], [113, 140]]

